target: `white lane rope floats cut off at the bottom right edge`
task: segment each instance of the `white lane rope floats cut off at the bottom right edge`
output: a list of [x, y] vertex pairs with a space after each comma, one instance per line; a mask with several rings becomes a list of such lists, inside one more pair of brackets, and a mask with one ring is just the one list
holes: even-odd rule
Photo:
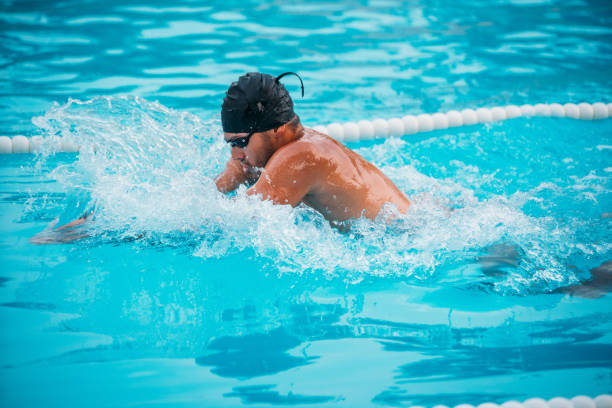
[[[446, 405], [435, 405], [432, 408], [450, 407]], [[480, 405], [460, 404], [456, 405], [454, 408], [612, 408], [612, 396], [609, 394], [602, 394], [595, 398], [590, 398], [585, 395], [578, 395], [571, 399], [556, 397], [548, 401], [542, 398], [530, 398], [522, 403], [518, 401], [507, 401], [498, 405], [492, 402], [485, 402]]]

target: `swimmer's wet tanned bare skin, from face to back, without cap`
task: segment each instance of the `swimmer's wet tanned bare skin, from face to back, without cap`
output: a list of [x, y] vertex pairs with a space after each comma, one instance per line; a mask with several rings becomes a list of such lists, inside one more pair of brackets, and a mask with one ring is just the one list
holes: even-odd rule
[[[246, 134], [225, 133], [225, 140]], [[233, 147], [225, 170], [215, 180], [221, 192], [255, 183], [247, 194], [275, 204], [300, 202], [330, 221], [365, 215], [374, 219], [385, 203], [401, 213], [408, 198], [379, 169], [327, 135], [283, 125], [255, 133], [244, 148]]]

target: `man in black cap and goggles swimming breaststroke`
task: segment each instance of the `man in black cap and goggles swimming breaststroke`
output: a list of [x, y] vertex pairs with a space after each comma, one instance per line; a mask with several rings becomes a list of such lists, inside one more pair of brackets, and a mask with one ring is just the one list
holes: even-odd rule
[[215, 179], [217, 189], [227, 193], [245, 183], [249, 195], [293, 207], [303, 202], [332, 223], [374, 219], [386, 203], [405, 213], [410, 201], [379, 169], [302, 126], [279, 82], [287, 74], [297, 76], [250, 72], [230, 85], [221, 122], [232, 156]]

